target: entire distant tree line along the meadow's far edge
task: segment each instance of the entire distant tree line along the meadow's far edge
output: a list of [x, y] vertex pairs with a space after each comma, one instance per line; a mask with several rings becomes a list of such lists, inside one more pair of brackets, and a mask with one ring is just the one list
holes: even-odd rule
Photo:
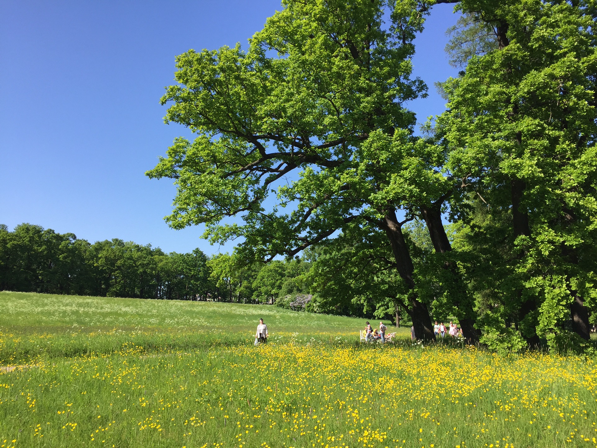
[[[24, 223], [13, 231], [0, 225], [0, 290], [267, 303], [295, 311], [394, 317], [392, 300], [380, 299], [383, 293], [363, 284], [359, 275], [353, 289], [330, 288], [334, 283], [326, 278], [334, 274], [315, 263], [325, 260], [323, 250], [310, 248], [300, 258], [246, 263], [236, 253], [208, 257], [198, 248], [165, 253], [118, 238], [91, 244], [39, 225]], [[346, 295], [343, 300], [338, 299], [341, 294]]]

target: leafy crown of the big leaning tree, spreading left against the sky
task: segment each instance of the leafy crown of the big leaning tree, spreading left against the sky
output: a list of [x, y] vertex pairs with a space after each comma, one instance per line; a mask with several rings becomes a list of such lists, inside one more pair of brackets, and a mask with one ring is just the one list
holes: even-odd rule
[[[294, 255], [361, 213], [400, 207], [405, 187], [389, 185], [404, 150], [392, 143], [380, 154], [385, 161], [362, 151], [368, 139], [377, 145], [375, 133], [392, 139], [396, 129], [406, 143], [414, 125], [401, 104], [426, 90], [409, 78], [411, 39], [423, 24], [416, 7], [290, 1], [247, 51], [177, 57], [179, 84], [162, 97], [165, 120], [198, 137], [177, 139], [146, 173], [175, 179], [169, 225], [205, 223], [212, 241], [242, 237], [239, 253], [267, 260]], [[375, 164], [387, 171], [384, 185], [367, 171]], [[232, 216], [244, 224], [221, 223]]]

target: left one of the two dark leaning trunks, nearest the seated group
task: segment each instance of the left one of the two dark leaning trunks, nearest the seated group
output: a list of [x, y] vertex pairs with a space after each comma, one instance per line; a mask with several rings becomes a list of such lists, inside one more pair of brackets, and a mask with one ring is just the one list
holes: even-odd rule
[[392, 247], [392, 253], [396, 260], [398, 274], [402, 280], [405, 281], [408, 289], [410, 289], [410, 294], [408, 294], [408, 296], [412, 308], [409, 314], [413, 320], [415, 337], [426, 341], [435, 340], [433, 325], [431, 323], [431, 318], [429, 317], [429, 309], [427, 309], [427, 305], [424, 305], [424, 303], [421, 303], [418, 300], [415, 291], [413, 260], [411, 259], [407, 243], [404, 241], [401, 224], [396, 218], [395, 210], [390, 210], [386, 213], [382, 227], [390, 240], [390, 246]]

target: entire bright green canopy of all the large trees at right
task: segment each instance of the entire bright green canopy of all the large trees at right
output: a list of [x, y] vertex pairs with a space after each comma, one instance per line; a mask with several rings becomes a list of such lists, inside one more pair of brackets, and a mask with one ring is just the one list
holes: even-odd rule
[[175, 179], [174, 228], [238, 239], [246, 263], [313, 248], [312, 285], [343, 266], [336, 306], [389, 301], [419, 339], [430, 314], [470, 342], [587, 339], [595, 3], [446, 2], [463, 71], [423, 136], [404, 103], [426, 96], [411, 57], [433, 2], [288, 0], [246, 50], [177, 57], [165, 121], [197, 137], [147, 176]]

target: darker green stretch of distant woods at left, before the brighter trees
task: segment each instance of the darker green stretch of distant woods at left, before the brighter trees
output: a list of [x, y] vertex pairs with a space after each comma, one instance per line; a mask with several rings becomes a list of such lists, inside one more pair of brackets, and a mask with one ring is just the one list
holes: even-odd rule
[[21, 224], [0, 225], [0, 289], [52, 294], [205, 299], [207, 256], [164, 253], [149, 244], [113, 240], [89, 243], [72, 233]]

